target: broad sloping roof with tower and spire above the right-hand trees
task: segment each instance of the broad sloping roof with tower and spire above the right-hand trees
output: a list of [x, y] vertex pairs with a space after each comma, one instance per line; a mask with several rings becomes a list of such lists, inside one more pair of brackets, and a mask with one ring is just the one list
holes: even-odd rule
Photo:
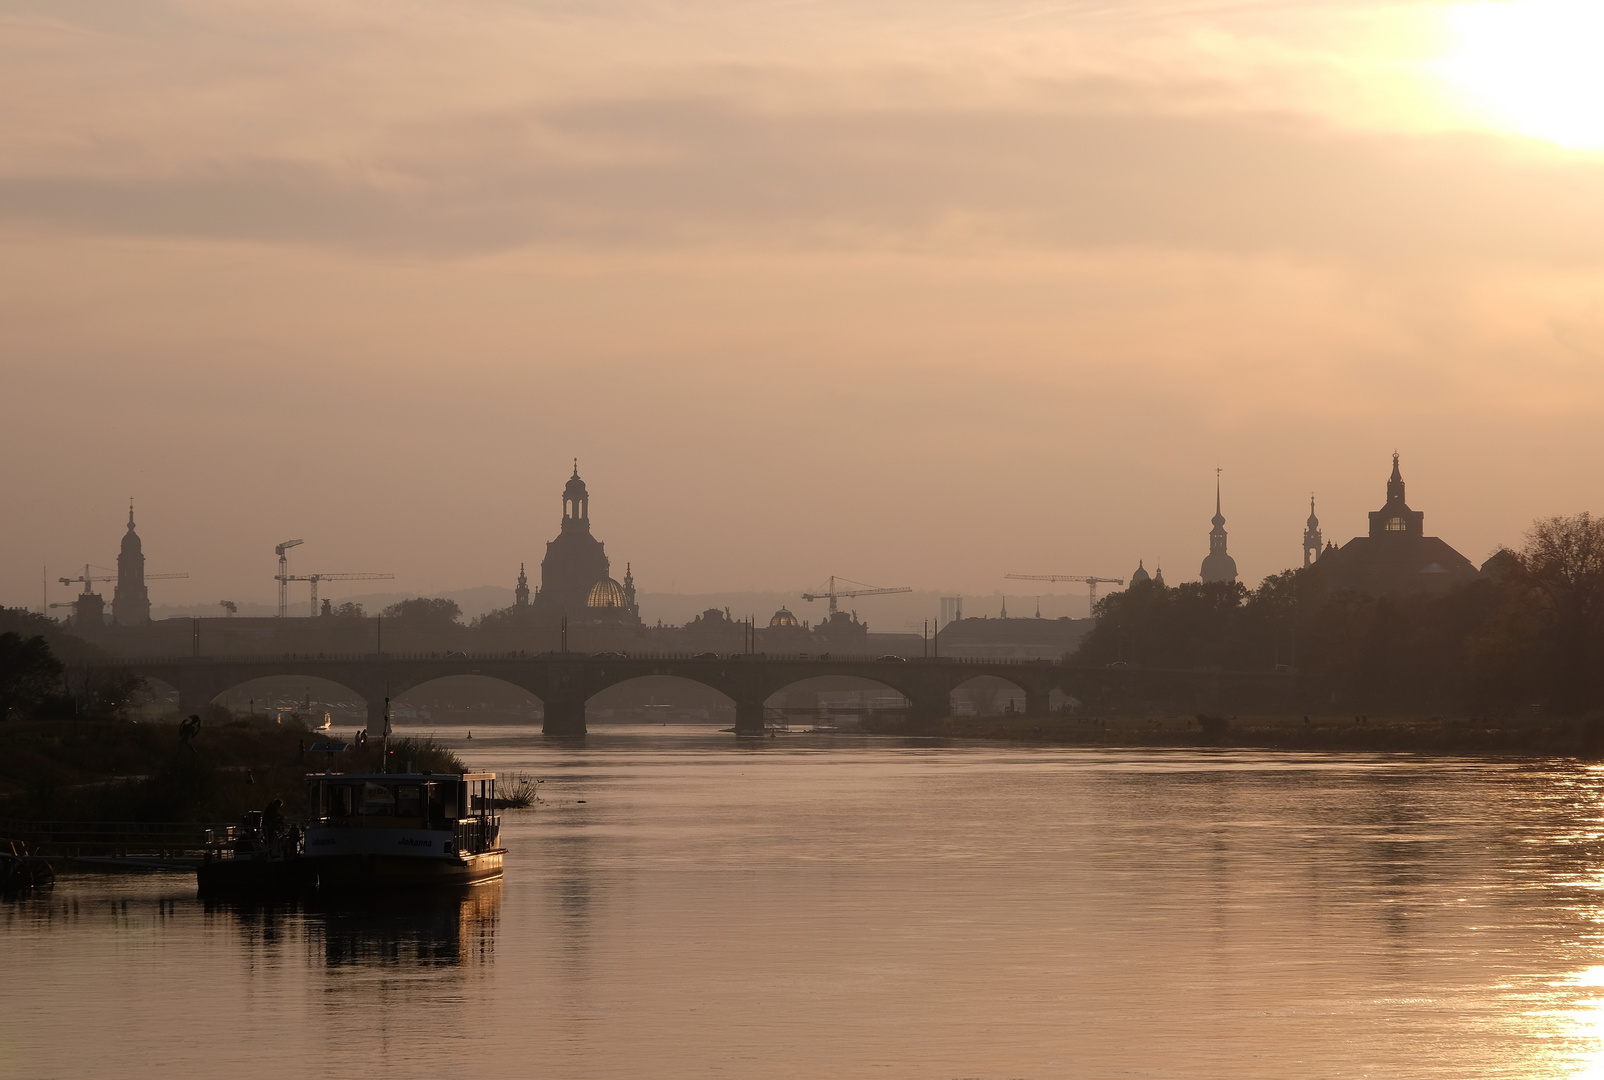
[[1370, 512], [1370, 534], [1327, 547], [1317, 573], [1333, 589], [1370, 595], [1434, 592], [1476, 578], [1476, 565], [1445, 541], [1426, 536], [1426, 514], [1404, 499], [1404, 472], [1392, 454], [1387, 501]]

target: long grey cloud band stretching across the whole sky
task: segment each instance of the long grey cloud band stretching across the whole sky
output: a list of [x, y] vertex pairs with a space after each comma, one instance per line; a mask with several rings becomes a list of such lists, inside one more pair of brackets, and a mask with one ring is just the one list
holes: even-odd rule
[[361, 170], [239, 157], [0, 177], [83, 233], [465, 254], [528, 244], [1144, 246], [1338, 258], [1604, 257], [1604, 162], [1286, 116], [589, 101], [411, 125]]

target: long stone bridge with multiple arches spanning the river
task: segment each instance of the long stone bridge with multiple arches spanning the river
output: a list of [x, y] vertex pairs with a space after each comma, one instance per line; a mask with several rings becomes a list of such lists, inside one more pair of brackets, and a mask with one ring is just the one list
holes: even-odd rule
[[[1182, 677], [1217, 688], [1225, 672], [1158, 672], [1070, 668], [1049, 661], [993, 660], [876, 660], [876, 658], [772, 658], [733, 655], [693, 656], [260, 656], [130, 660], [138, 676], [178, 690], [180, 713], [199, 713], [228, 690], [274, 676], [327, 679], [348, 687], [367, 703], [369, 727], [383, 719], [385, 698], [452, 676], [499, 679], [541, 698], [547, 735], [584, 735], [585, 701], [608, 687], [645, 676], [670, 676], [712, 687], [735, 703], [738, 735], [764, 730], [764, 703], [775, 693], [820, 676], [855, 676], [903, 695], [913, 719], [950, 714], [951, 693], [962, 684], [991, 676], [1019, 687], [1025, 713], [1044, 716], [1054, 690], [1086, 696], [1107, 687], [1110, 677], [1129, 682], [1136, 676]], [[1285, 680], [1275, 672], [1233, 672], [1238, 677]]]

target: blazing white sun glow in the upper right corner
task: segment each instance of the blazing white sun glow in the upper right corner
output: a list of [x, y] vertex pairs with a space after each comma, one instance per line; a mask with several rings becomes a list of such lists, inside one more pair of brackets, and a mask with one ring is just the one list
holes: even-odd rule
[[1604, 149], [1604, 2], [1484, 0], [1448, 11], [1437, 69], [1501, 128]]

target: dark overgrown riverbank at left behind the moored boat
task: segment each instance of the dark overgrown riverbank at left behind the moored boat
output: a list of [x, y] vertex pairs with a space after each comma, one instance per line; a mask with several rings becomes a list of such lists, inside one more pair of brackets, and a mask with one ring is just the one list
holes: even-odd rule
[[[202, 727], [191, 743], [176, 724], [0, 724], [0, 817], [77, 822], [231, 822], [284, 801], [305, 812], [303, 777], [324, 765], [303, 753], [321, 737], [298, 725], [234, 721]], [[391, 767], [459, 772], [462, 762], [428, 740], [390, 740]], [[335, 762], [377, 772], [379, 743]]]

